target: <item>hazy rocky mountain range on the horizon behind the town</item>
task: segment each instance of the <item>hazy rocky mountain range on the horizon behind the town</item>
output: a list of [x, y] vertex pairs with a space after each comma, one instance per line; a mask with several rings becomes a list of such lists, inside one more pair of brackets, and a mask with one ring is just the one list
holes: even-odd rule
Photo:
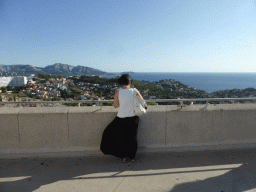
[[98, 69], [85, 66], [73, 66], [62, 63], [55, 63], [46, 67], [35, 67], [32, 65], [0, 65], [0, 76], [29, 76], [31, 74], [51, 74], [59, 76], [77, 76], [77, 75], [117, 75], [104, 72]]

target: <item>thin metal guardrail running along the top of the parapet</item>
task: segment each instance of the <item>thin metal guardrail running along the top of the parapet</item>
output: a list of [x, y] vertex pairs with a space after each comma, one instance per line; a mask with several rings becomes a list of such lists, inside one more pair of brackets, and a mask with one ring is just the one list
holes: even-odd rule
[[[182, 106], [183, 102], [206, 102], [206, 107], [210, 101], [229, 101], [234, 103], [235, 101], [256, 101], [256, 97], [247, 98], [194, 98], [194, 99], [147, 99], [146, 102], [154, 103], [171, 103], [179, 102]], [[114, 100], [73, 100], [73, 101], [0, 101], [0, 105], [4, 104], [56, 104], [56, 103], [78, 103], [79, 107], [82, 103], [96, 103], [102, 108], [102, 103], [113, 103]]]

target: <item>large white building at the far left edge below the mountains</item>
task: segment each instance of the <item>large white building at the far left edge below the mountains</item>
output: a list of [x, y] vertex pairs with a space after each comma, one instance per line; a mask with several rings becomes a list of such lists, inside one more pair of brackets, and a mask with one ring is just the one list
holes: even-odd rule
[[28, 83], [27, 77], [12, 76], [12, 77], [0, 77], [0, 87], [16, 87], [24, 86]]

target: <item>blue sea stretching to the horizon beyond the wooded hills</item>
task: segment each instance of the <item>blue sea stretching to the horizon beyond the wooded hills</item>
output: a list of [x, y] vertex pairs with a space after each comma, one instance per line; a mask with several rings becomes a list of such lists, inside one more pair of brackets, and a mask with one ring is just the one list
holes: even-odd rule
[[[132, 79], [155, 82], [174, 79], [196, 89], [212, 93], [226, 89], [256, 88], [256, 73], [173, 73], [147, 72], [131, 73]], [[113, 78], [115, 76], [106, 76]]]

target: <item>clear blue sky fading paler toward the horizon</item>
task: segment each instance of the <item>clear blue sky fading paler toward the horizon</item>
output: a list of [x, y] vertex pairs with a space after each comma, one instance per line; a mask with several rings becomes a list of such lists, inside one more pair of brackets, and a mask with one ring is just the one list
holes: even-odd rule
[[255, 0], [0, 0], [0, 64], [256, 72]]

